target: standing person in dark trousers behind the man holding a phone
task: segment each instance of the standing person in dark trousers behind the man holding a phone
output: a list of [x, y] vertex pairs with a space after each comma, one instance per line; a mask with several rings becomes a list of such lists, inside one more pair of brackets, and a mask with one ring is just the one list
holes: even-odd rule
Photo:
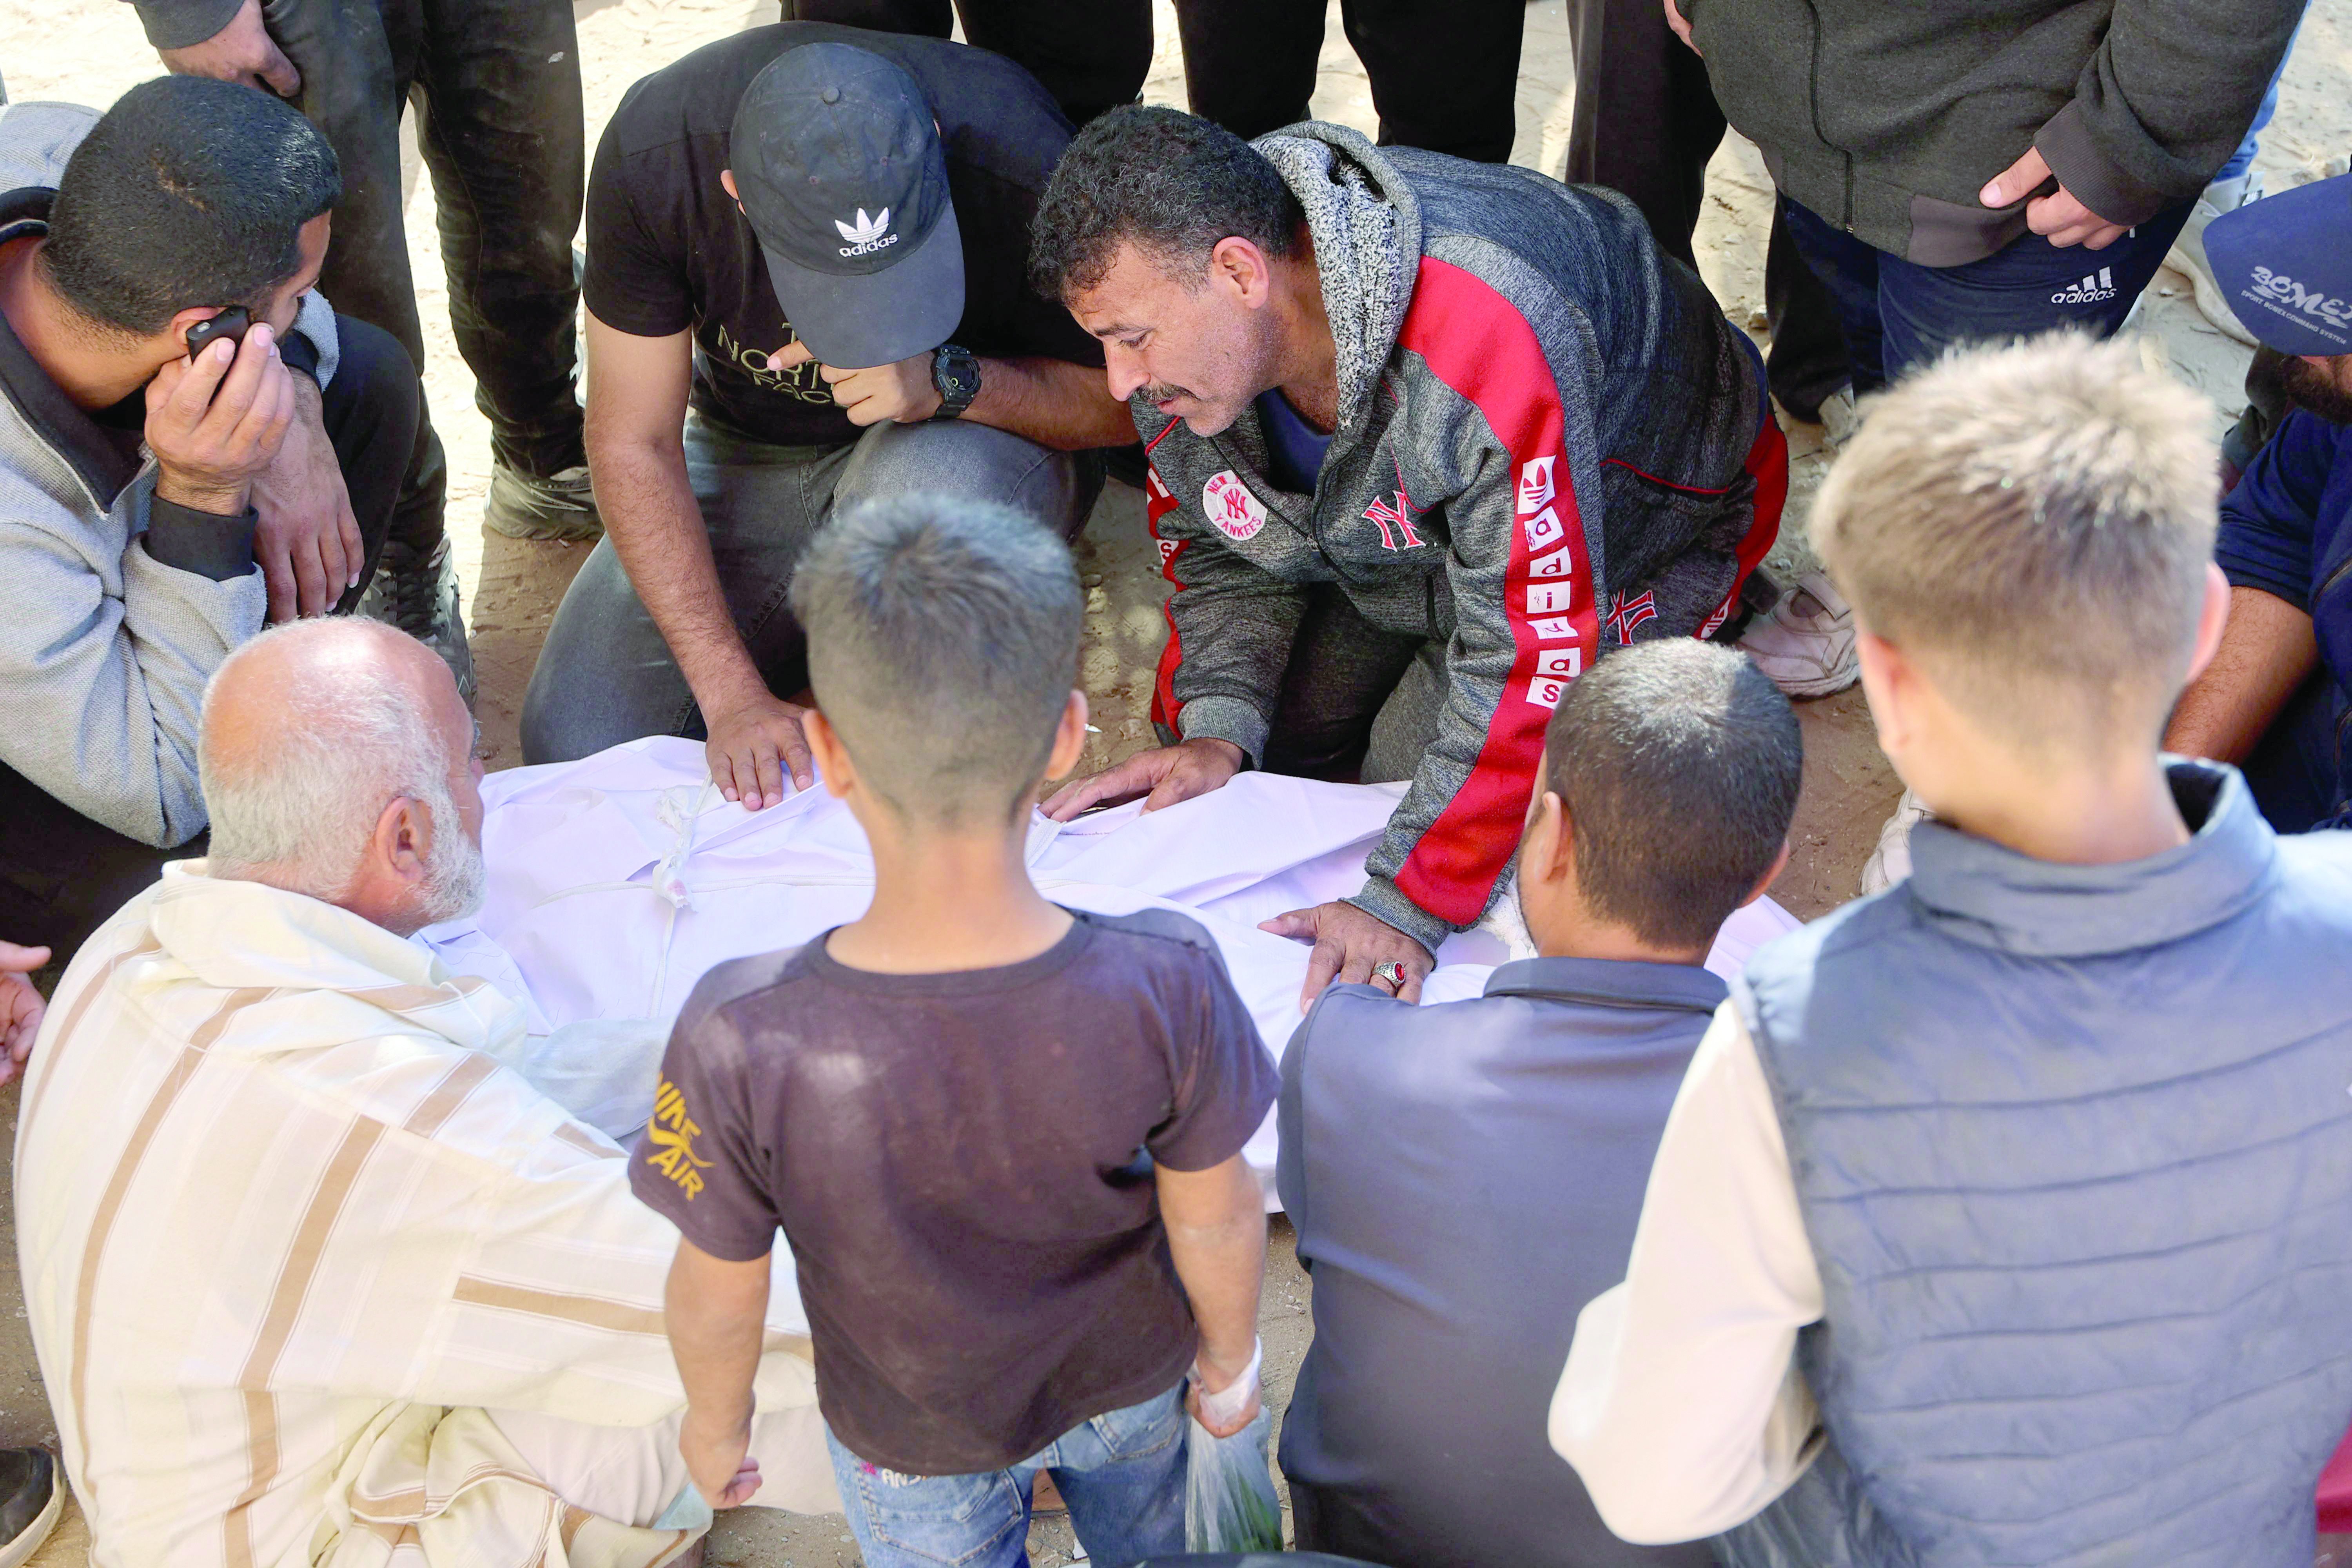
[[[572, 7], [541, 0], [136, 0], [179, 75], [294, 101], [343, 167], [322, 292], [383, 327], [423, 371], [400, 190], [400, 110], [416, 106], [433, 176], [449, 322], [492, 428], [485, 522], [522, 538], [595, 538], [574, 395], [586, 188]], [[402, 480], [379, 614], [433, 644], [473, 698], [445, 534], [447, 465], [430, 418]], [[374, 609], [374, 599], [372, 599]]]

